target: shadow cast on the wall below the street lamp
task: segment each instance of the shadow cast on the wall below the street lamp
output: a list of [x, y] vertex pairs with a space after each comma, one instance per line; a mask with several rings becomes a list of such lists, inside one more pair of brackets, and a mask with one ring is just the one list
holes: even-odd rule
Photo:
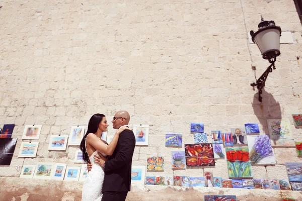
[[269, 135], [268, 128], [266, 124], [267, 118], [275, 118], [275, 119], [282, 119], [282, 111], [280, 104], [275, 100], [274, 96], [271, 93], [262, 89], [262, 103], [259, 102], [258, 92], [255, 93], [252, 107], [254, 109], [254, 114], [257, 116], [260, 124], [263, 127], [263, 131], [266, 135]]

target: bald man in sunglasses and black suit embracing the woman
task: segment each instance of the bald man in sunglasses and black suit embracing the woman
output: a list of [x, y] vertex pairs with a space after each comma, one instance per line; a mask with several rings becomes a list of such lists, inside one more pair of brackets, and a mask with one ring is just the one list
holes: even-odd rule
[[[128, 126], [130, 115], [127, 111], [115, 113], [112, 122], [114, 129]], [[101, 154], [94, 155], [94, 162], [104, 167], [102, 201], [125, 200], [131, 187], [132, 155], [135, 148], [135, 137], [131, 130], [124, 130], [120, 135], [116, 148], [109, 159]]]

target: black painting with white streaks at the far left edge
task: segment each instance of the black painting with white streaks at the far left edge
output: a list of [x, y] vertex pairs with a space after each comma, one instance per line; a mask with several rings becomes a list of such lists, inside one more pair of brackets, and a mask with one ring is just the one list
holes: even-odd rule
[[0, 139], [0, 165], [10, 165], [18, 138]]

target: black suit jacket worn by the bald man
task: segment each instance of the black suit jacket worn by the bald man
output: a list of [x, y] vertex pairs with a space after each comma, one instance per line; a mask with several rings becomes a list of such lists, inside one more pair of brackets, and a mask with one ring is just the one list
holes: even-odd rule
[[105, 162], [105, 178], [102, 191], [130, 191], [131, 165], [135, 148], [135, 137], [131, 130], [124, 130], [116, 148]]

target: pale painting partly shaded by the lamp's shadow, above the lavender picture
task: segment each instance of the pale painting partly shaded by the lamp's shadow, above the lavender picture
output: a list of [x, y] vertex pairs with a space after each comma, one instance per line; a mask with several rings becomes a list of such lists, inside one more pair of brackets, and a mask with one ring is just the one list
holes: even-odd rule
[[293, 147], [294, 140], [288, 119], [266, 119], [273, 147]]

